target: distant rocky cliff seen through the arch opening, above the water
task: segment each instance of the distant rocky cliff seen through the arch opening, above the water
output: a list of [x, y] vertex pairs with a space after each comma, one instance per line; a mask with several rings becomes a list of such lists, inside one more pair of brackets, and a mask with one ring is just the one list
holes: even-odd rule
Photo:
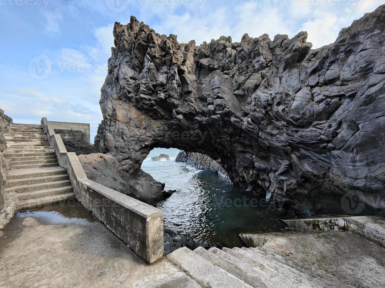
[[201, 153], [181, 151], [176, 156], [175, 161], [189, 163], [198, 169], [212, 169], [229, 178], [218, 162]]

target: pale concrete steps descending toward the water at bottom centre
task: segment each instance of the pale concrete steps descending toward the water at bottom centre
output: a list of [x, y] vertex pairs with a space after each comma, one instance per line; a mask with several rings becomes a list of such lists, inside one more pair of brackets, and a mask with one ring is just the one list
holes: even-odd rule
[[167, 258], [202, 287], [352, 287], [260, 247], [182, 247]]

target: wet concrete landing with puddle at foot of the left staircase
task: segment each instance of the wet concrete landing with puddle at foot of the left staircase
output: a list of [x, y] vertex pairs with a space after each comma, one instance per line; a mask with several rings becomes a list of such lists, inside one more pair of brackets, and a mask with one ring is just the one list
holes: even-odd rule
[[184, 273], [146, 265], [77, 202], [15, 215], [0, 238], [0, 287], [147, 287]]

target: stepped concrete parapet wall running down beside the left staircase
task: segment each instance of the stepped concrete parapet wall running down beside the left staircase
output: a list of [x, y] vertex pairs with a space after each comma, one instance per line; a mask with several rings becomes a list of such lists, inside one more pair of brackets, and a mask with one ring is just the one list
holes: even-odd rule
[[67, 152], [47, 118], [42, 118], [41, 124], [50, 145], [54, 146], [59, 165], [67, 169], [76, 199], [146, 263], [161, 258], [162, 211], [89, 180], [76, 154]]

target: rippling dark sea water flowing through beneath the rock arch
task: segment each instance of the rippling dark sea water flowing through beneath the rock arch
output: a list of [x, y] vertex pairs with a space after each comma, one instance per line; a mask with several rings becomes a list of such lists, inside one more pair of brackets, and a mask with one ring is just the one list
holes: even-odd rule
[[[152, 161], [164, 153], [171, 161]], [[268, 207], [264, 197], [235, 187], [213, 170], [199, 170], [175, 162], [178, 149], [153, 149], [142, 169], [166, 190], [177, 190], [157, 204], [163, 211], [164, 225], [195, 240], [218, 242], [225, 247], [242, 247], [240, 233], [282, 231], [288, 229], [281, 219], [295, 214]]]

